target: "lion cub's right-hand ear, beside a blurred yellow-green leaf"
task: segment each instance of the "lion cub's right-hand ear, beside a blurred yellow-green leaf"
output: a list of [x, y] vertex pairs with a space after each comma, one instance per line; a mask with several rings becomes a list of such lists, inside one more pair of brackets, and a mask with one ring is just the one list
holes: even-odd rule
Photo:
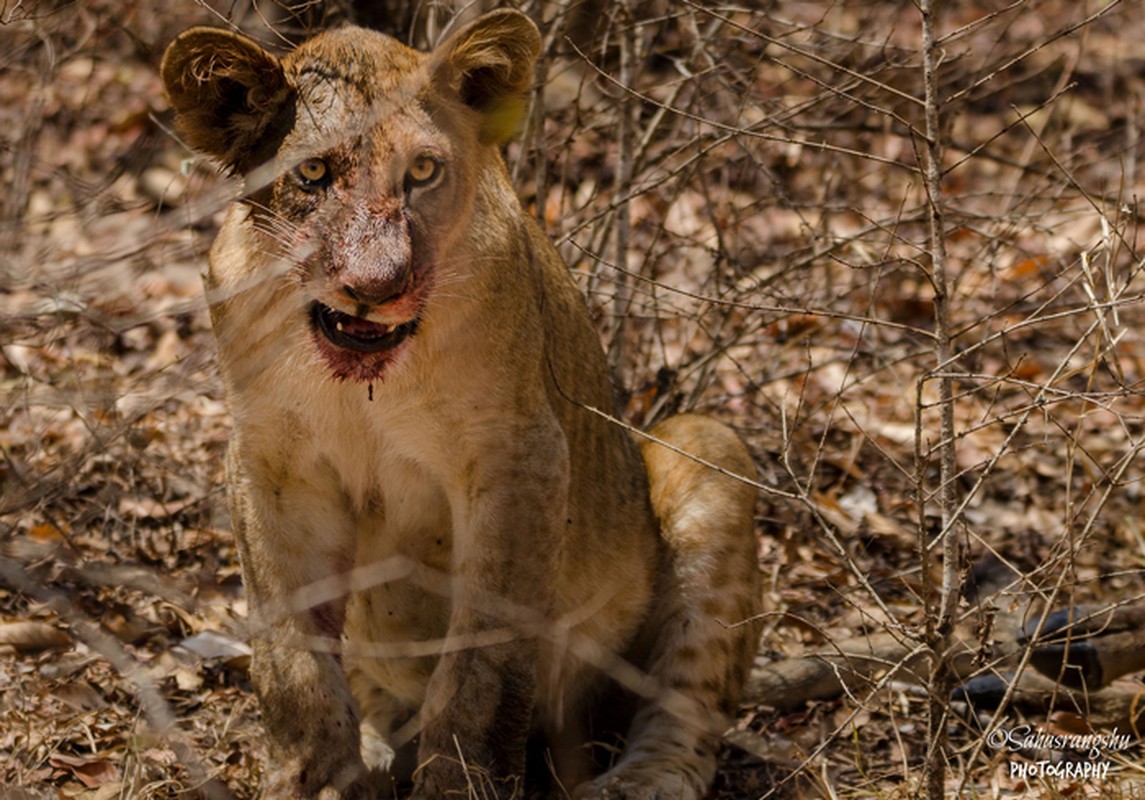
[[540, 33], [513, 9], [485, 14], [434, 49], [431, 70], [463, 103], [482, 114], [481, 138], [500, 143], [524, 119], [526, 93], [540, 54]]

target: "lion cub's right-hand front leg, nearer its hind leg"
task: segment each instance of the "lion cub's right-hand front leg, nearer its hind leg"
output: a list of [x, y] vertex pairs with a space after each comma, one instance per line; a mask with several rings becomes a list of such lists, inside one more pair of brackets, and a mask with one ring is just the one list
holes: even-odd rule
[[524, 774], [568, 457], [555, 422], [503, 433], [489, 446], [504, 451], [512, 443], [512, 452], [480, 462], [456, 522], [453, 605], [421, 708], [418, 800], [468, 786], [477, 797], [511, 797]]

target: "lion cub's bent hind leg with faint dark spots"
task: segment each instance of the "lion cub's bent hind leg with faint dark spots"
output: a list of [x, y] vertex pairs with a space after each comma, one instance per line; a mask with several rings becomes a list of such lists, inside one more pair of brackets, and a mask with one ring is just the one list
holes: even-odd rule
[[[756, 474], [743, 443], [714, 420], [684, 414], [650, 433], [734, 475]], [[714, 777], [719, 735], [758, 647], [756, 490], [655, 442], [641, 447], [669, 564], [642, 635], [657, 696], [633, 718], [619, 762], [578, 797], [693, 800]]]

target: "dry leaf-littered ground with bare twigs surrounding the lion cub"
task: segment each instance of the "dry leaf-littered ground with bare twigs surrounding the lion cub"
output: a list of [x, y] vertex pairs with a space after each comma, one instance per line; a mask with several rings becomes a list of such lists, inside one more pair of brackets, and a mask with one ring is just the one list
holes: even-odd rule
[[[562, 3], [526, 6], [553, 35], [511, 173], [585, 290], [625, 419], [697, 410], [749, 443], [761, 665], [922, 635], [943, 375], [946, 512], [1014, 576], [990, 613], [1145, 594], [1145, 15], [939, 5], [945, 364], [914, 3], [606, 2], [592, 35], [568, 29], [579, 48]], [[157, 65], [192, 24], [282, 46], [295, 22], [238, 0], [0, 0], [0, 799], [256, 794], [199, 284], [236, 184], [179, 142]], [[712, 797], [919, 797], [925, 694], [875, 683], [745, 705]], [[1099, 748], [1101, 777], [1017, 776], [1050, 755], [984, 735], [1110, 732], [1089, 707], [954, 711], [951, 797], [1145, 797], [1136, 731]]]

